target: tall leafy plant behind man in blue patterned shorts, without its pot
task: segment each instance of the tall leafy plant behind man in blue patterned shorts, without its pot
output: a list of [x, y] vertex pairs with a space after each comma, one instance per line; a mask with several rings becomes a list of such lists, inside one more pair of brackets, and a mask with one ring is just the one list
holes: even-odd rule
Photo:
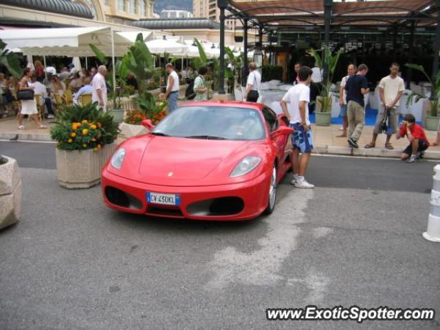
[[322, 81], [322, 89], [320, 92], [322, 112], [331, 111], [331, 81], [333, 80], [333, 75], [335, 74], [336, 65], [338, 65], [341, 53], [342, 50], [338, 50], [338, 52], [333, 55], [330, 48], [326, 46], [322, 50], [321, 58], [317, 50], [309, 50], [309, 54], [311, 54], [311, 56], [314, 56], [315, 63], [316, 65], [318, 65], [321, 71], [324, 65], [327, 65], [328, 74], [325, 81]]

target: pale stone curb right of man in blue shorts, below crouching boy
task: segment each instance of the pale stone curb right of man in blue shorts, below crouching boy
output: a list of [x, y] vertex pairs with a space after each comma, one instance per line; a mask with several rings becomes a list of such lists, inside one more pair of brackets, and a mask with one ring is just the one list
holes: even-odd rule
[[[358, 157], [386, 157], [399, 158], [399, 149], [388, 150], [386, 148], [350, 148], [349, 146], [314, 146], [312, 153], [320, 155], [344, 155]], [[440, 159], [440, 151], [425, 151], [425, 159]]]

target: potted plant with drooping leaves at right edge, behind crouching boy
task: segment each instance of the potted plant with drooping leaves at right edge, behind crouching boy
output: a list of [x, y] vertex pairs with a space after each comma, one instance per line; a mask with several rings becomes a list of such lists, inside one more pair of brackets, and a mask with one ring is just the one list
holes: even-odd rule
[[419, 102], [419, 100], [425, 100], [425, 103], [423, 104], [423, 111], [426, 113], [424, 123], [425, 128], [428, 131], [437, 131], [437, 125], [439, 124], [440, 71], [437, 72], [437, 75], [434, 77], [434, 81], [432, 81], [428, 74], [426, 74], [423, 66], [410, 63], [406, 63], [405, 66], [424, 74], [432, 86], [430, 97], [412, 91], [408, 96], [408, 100], [406, 100], [406, 104], [408, 105], [412, 103], [414, 98], [416, 102]]

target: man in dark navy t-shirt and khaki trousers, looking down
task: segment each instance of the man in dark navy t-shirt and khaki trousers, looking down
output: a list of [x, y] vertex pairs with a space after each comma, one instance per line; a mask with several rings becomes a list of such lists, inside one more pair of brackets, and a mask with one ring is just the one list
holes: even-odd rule
[[369, 67], [361, 64], [358, 72], [347, 80], [345, 91], [347, 91], [347, 115], [349, 119], [349, 145], [352, 148], [359, 148], [358, 140], [364, 129], [365, 104], [364, 94], [369, 93], [368, 81], [365, 78]]

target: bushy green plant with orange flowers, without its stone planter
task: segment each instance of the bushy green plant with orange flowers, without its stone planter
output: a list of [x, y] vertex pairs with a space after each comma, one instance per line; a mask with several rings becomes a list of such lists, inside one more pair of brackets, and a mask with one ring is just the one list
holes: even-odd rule
[[50, 131], [57, 148], [94, 151], [112, 143], [118, 133], [118, 124], [111, 115], [98, 109], [98, 102], [67, 107]]

